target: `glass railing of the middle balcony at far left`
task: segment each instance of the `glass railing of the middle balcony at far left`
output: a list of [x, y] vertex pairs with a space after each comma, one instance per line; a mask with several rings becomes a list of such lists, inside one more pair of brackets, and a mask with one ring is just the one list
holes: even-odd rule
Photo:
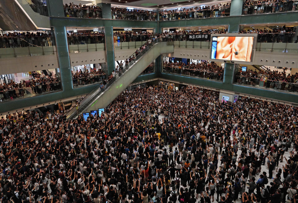
[[3, 48], [0, 49], [1, 58], [51, 55], [56, 50], [51, 36], [3, 36], [0, 37], [0, 48]]

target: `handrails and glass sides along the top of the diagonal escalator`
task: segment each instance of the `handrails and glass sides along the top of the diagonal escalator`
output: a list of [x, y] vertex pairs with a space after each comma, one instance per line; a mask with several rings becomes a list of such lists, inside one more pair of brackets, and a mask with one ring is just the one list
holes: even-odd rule
[[[162, 41], [166, 41], [166, 39], [164, 40], [163, 38], [158, 38], [154, 41], [151, 42], [150, 45], [148, 45], [144, 50], [142, 50], [138, 56], [136, 56], [136, 58], [134, 60], [132, 60], [128, 65], [124, 66], [122, 70], [120, 70], [117, 74], [115, 74], [115, 76], [108, 82], [106, 83], [105, 87], [104, 88], [95, 88], [93, 91], [91, 91], [86, 97], [84, 97], [84, 99], [82, 101], [80, 101], [80, 105], [78, 107], [78, 109], [76, 109], [76, 106], [74, 106], [66, 115], [66, 118], [69, 119], [71, 118], [75, 112], [79, 111], [79, 109], [83, 108], [85, 106], [85, 104], [90, 101], [94, 96], [97, 96], [98, 93], [102, 93], [104, 92], [105, 90], [108, 89], [108, 87], [111, 86], [111, 84], [117, 79], [119, 78], [126, 70], [128, 70], [130, 67], [133, 66], [133, 64], [135, 62], [138, 61], [138, 59], [140, 59], [149, 49], [151, 49], [151, 47], [153, 47], [154, 45], [156, 45], [157, 43], [159, 42], [162, 42]], [[134, 53], [131, 55], [133, 56]], [[84, 107], [85, 108], [85, 107]], [[76, 115], [78, 116], [78, 114]]]

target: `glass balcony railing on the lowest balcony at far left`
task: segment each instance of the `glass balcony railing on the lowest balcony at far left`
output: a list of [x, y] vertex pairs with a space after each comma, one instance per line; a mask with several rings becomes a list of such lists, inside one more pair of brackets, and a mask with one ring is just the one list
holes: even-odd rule
[[30, 87], [12, 87], [10, 89], [0, 88], [0, 101], [10, 101], [14, 99], [23, 99], [33, 97], [44, 93], [55, 92], [61, 90], [61, 83], [49, 83], [43, 85], [35, 85]]

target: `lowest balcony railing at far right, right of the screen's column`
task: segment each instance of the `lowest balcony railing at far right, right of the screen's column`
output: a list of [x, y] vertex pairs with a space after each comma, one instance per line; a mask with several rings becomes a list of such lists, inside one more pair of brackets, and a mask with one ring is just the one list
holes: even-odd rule
[[265, 78], [250, 78], [243, 76], [235, 76], [234, 83], [249, 85], [254, 87], [263, 87], [273, 90], [283, 90], [287, 92], [298, 92], [298, 82], [287, 83], [283, 81], [268, 80]]

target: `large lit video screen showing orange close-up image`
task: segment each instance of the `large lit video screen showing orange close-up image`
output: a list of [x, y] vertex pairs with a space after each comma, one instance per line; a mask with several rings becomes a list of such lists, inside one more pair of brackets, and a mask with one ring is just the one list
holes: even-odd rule
[[211, 59], [251, 62], [254, 36], [213, 36]]

